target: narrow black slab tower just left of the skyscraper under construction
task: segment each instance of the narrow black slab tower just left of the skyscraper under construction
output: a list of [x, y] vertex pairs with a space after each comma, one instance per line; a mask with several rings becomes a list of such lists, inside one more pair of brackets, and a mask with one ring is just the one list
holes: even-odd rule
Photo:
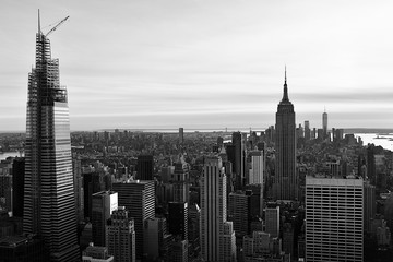
[[23, 217], [25, 158], [16, 157], [12, 162], [12, 215]]

